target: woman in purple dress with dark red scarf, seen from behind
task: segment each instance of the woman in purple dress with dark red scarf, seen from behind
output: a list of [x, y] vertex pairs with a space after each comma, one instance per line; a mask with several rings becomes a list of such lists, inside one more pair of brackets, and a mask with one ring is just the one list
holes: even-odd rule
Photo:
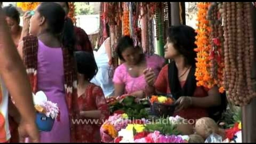
[[29, 33], [19, 44], [32, 91], [43, 91], [57, 103], [60, 113], [50, 132], [41, 132], [43, 143], [69, 143], [75, 138], [77, 72], [73, 50], [74, 27], [59, 4], [43, 2], [30, 19]]

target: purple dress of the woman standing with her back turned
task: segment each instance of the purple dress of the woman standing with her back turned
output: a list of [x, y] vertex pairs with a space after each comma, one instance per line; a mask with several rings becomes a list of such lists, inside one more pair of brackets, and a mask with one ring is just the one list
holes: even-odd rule
[[38, 91], [44, 91], [48, 100], [57, 103], [60, 119], [55, 120], [50, 132], [40, 132], [41, 143], [69, 143], [68, 106], [65, 100], [62, 49], [50, 48], [38, 41]]

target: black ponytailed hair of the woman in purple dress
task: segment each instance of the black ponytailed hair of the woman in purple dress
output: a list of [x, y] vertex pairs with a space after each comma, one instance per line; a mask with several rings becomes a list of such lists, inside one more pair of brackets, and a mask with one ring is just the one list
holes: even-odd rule
[[47, 31], [58, 36], [63, 47], [68, 48], [72, 54], [76, 42], [74, 25], [71, 19], [66, 18], [63, 8], [57, 3], [43, 2], [38, 7], [38, 12], [48, 23]]

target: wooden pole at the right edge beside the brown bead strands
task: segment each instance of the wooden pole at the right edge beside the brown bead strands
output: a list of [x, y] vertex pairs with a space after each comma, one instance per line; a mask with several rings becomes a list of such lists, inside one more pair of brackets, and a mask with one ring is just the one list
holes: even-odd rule
[[[252, 22], [254, 33], [254, 49], [256, 51], [256, 7], [252, 5]], [[255, 54], [254, 54], [255, 55]], [[252, 80], [256, 79], [256, 59], [254, 60], [252, 68]], [[256, 90], [256, 84], [253, 85], [254, 91]], [[256, 143], [256, 98], [247, 105], [242, 107], [242, 141], [243, 143]]]

